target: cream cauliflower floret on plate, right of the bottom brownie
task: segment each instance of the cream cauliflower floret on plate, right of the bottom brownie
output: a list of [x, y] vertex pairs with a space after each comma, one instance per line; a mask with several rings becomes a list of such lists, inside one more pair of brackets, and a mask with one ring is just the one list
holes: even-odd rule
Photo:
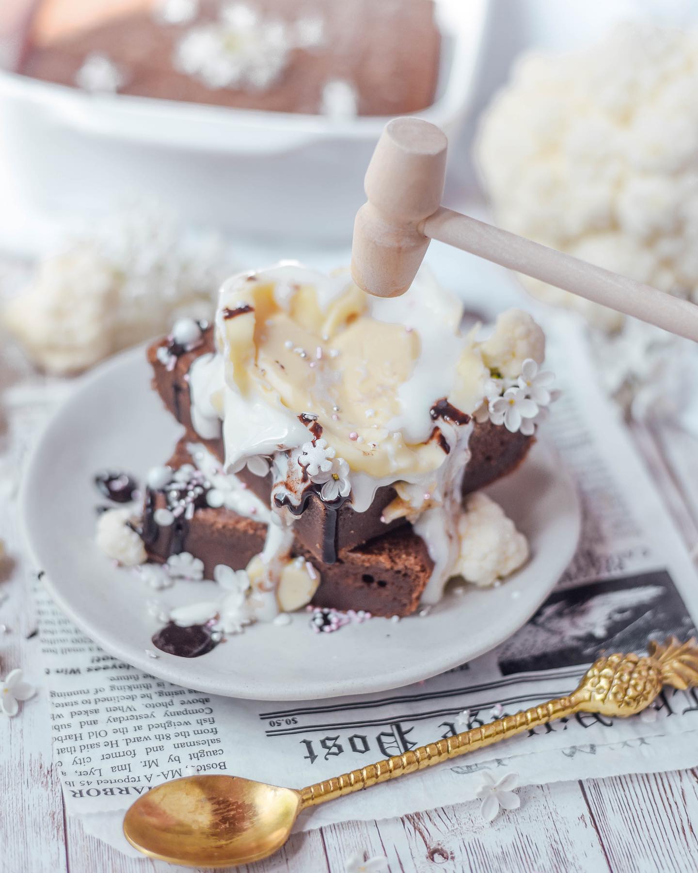
[[524, 564], [528, 540], [502, 507], [486, 494], [471, 495], [458, 521], [461, 539], [455, 574], [475, 585], [491, 585]]

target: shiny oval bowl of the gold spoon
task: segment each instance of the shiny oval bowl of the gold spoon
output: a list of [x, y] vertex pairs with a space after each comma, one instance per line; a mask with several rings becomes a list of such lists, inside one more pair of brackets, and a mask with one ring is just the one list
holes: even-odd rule
[[124, 834], [134, 849], [188, 867], [259, 861], [291, 834], [301, 795], [239, 776], [187, 776], [143, 794], [128, 809]]

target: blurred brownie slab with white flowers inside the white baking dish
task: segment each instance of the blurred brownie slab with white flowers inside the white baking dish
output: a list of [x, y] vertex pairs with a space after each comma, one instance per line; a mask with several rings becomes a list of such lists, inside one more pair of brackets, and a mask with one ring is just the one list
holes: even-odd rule
[[361, 115], [412, 113], [434, 101], [441, 36], [432, 0], [248, 0], [253, 13], [290, 32], [299, 20], [322, 20], [313, 45], [289, 43], [265, 87], [209, 86], [175, 68], [181, 38], [215, 20], [223, 5], [202, 0], [195, 21], [161, 24], [154, 0], [43, 0], [18, 72], [74, 86], [85, 58], [100, 52], [123, 74], [120, 93], [144, 97], [319, 113], [325, 84], [339, 80], [355, 91]]

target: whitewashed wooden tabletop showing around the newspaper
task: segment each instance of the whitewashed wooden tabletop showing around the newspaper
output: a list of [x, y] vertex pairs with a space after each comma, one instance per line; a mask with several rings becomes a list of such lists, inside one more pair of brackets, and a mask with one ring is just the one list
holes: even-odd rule
[[[3, 352], [0, 351], [0, 356]], [[2, 361], [2, 357], [0, 357]], [[17, 382], [16, 359], [0, 365], [0, 391]], [[633, 428], [633, 435], [692, 553], [698, 553], [698, 441], [681, 432]], [[10, 445], [0, 409], [0, 458]], [[693, 489], [687, 483], [695, 482]], [[0, 536], [17, 556], [16, 519], [0, 494]], [[22, 666], [41, 685], [29, 593], [19, 563], [0, 568], [0, 672]], [[42, 691], [45, 693], [45, 690]], [[31, 703], [0, 720], [0, 870], [7, 873], [142, 873], [183, 870], [130, 859], [86, 835], [65, 815], [51, 766], [45, 708]], [[385, 855], [392, 873], [428, 871], [698, 870], [698, 770], [565, 782], [519, 792], [522, 807], [485, 824], [478, 804], [385, 821], [352, 822], [291, 838], [249, 873], [341, 873], [352, 852]], [[427, 801], [428, 805], [428, 801]]]

